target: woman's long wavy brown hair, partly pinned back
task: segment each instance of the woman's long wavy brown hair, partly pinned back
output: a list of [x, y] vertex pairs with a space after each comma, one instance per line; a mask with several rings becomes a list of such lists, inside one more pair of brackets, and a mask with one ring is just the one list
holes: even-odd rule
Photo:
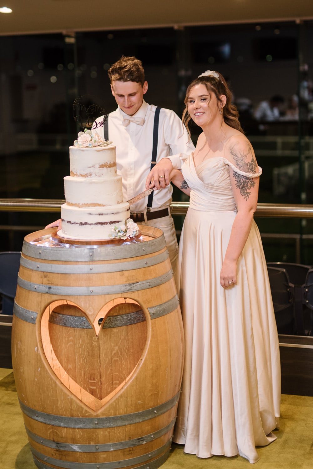
[[[183, 111], [183, 124], [185, 125], [189, 136], [190, 136], [190, 130], [188, 128], [188, 122], [191, 120], [191, 116], [188, 113], [188, 98], [189, 94], [191, 91], [191, 88], [193, 88], [195, 85], [203, 84], [205, 85], [207, 91], [211, 94], [214, 93], [217, 99], [217, 105], [220, 104], [220, 109], [221, 113], [223, 115], [223, 120], [226, 124], [228, 124], [230, 127], [233, 129], [239, 130], [244, 134], [243, 129], [241, 128], [240, 122], [238, 120], [239, 113], [237, 111], [237, 107], [231, 104], [231, 91], [229, 90], [229, 87], [225, 81], [225, 78], [217, 72], [219, 77], [216, 78], [215, 76], [199, 76], [198, 78], [195, 78], [190, 85], [187, 88], [186, 91], [186, 97], [184, 100], [185, 103], [185, 109]], [[226, 96], [226, 104], [224, 107], [222, 107], [222, 102], [221, 102], [221, 95]]]

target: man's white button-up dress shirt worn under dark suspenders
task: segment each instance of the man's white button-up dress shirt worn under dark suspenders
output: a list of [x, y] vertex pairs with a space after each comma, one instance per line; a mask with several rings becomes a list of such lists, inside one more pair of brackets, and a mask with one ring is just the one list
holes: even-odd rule
[[[108, 115], [108, 135], [116, 146], [117, 173], [122, 175], [123, 199], [126, 202], [145, 190], [145, 180], [150, 172], [153, 122], [157, 106], [143, 101], [142, 106], [134, 116], [127, 116], [118, 107]], [[129, 122], [123, 122], [125, 117], [130, 117]], [[135, 118], [143, 125], [136, 123]], [[101, 126], [103, 116], [96, 120], [97, 125], [92, 126], [92, 131], [97, 131], [103, 136]], [[127, 124], [125, 126], [125, 123]], [[194, 145], [189, 140], [188, 133], [183, 127], [182, 121], [174, 111], [161, 108], [159, 119], [159, 138], [156, 161], [177, 155], [178, 153], [191, 153]], [[153, 194], [152, 211], [167, 207], [172, 202], [173, 188], [171, 185], [165, 189], [156, 190]], [[131, 212], [144, 212], [148, 197], [130, 206]]]

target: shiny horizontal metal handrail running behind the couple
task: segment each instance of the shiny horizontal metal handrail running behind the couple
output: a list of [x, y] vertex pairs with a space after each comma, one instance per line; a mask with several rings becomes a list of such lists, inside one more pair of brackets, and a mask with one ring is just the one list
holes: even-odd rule
[[[65, 200], [59, 199], [1, 199], [0, 212], [61, 212]], [[173, 202], [172, 214], [185, 215], [189, 202]], [[313, 218], [313, 205], [258, 204], [256, 217]]]

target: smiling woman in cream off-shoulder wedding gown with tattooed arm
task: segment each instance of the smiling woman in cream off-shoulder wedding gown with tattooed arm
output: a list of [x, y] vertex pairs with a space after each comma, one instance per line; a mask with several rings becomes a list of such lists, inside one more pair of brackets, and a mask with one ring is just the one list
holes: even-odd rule
[[176, 279], [185, 361], [173, 440], [200, 458], [253, 463], [255, 446], [276, 439], [280, 413], [278, 335], [253, 219], [262, 170], [221, 74], [193, 80], [185, 106], [186, 127], [192, 119], [203, 130], [196, 150], [179, 159], [181, 170], [177, 158], [175, 169], [163, 159], [148, 179], [156, 188], [171, 179], [190, 195]]

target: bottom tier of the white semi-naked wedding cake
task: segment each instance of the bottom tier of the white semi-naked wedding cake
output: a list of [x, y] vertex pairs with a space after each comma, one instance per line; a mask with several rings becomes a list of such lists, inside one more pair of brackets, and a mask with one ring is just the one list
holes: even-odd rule
[[61, 205], [62, 236], [72, 239], [109, 239], [112, 228], [125, 224], [130, 218], [130, 204], [107, 207], [74, 207]]

